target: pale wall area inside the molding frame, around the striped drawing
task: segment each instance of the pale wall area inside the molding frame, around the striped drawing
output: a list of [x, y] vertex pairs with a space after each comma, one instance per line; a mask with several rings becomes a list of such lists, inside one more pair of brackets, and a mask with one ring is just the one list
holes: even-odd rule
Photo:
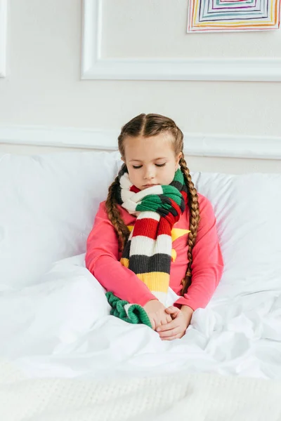
[[186, 34], [187, 0], [103, 0], [103, 5], [102, 50], [108, 58], [281, 57], [280, 31]]

